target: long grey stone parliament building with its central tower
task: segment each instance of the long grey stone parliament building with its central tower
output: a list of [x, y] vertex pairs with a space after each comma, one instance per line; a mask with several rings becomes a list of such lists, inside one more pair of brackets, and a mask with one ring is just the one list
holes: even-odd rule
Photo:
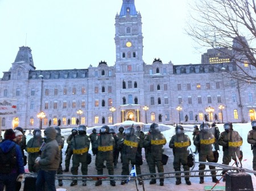
[[[141, 14], [134, 1], [123, 0], [115, 16], [116, 61], [109, 66], [70, 70], [36, 70], [29, 47], [20, 47], [15, 62], [0, 81], [0, 98], [18, 101], [15, 116], [2, 117], [2, 128], [39, 126], [36, 115], [46, 113], [43, 128], [111, 125], [125, 120], [156, 123], [248, 122], [255, 118], [255, 85], [226, 77], [236, 72], [233, 61], [216, 64], [163, 64], [155, 59], [145, 64]], [[36, 63], [35, 63], [36, 64]], [[251, 73], [255, 68], [241, 65]], [[110, 111], [111, 107], [115, 111]], [[148, 106], [148, 110], [143, 110]], [[177, 106], [183, 109], [180, 113]], [[211, 106], [210, 116], [205, 108]], [[76, 111], [81, 109], [79, 116]], [[180, 114], [180, 115], [179, 115]], [[146, 119], [147, 116], [147, 119]], [[112, 118], [113, 117], [113, 118]], [[187, 118], [187, 121], [186, 121]]]

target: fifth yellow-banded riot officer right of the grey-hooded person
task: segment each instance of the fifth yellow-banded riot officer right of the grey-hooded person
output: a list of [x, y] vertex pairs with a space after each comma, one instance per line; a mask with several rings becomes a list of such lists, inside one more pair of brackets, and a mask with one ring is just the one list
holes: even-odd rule
[[[188, 135], [184, 134], [184, 128], [181, 125], [177, 125], [175, 128], [176, 135], [173, 135], [169, 147], [172, 148], [174, 153], [174, 170], [180, 171], [180, 165], [183, 165], [184, 171], [189, 171], [188, 167], [188, 147], [191, 146], [191, 141]], [[176, 176], [180, 176], [180, 173], [176, 173]], [[187, 185], [191, 185], [189, 180], [189, 172], [185, 173], [185, 182]], [[176, 177], [176, 185], [181, 184], [181, 177]]]

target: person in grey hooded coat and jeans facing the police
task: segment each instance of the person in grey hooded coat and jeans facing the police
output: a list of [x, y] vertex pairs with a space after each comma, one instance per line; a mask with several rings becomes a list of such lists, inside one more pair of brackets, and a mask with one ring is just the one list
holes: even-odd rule
[[47, 127], [44, 130], [44, 142], [40, 151], [40, 157], [36, 158], [35, 163], [40, 165], [36, 178], [36, 191], [43, 191], [44, 184], [48, 191], [55, 191], [55, 176], [60, 165], [59, 144], [56, 141], [56, 130], [54, 127]]

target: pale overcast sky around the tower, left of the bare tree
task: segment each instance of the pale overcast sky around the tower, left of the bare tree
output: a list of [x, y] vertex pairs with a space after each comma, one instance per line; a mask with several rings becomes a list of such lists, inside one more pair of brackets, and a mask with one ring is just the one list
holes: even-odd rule
[[[21, 46], [32, 49], [38, 70], [81, 69], [115, 63], [115, 14], [122, 0], [0, 0], [0, 77]], [[143, 60], [200, 63], [185, 34], [187, 0], [135, 0], [142, 15]], [[27, 37], [26, 37], [27, 36]]]

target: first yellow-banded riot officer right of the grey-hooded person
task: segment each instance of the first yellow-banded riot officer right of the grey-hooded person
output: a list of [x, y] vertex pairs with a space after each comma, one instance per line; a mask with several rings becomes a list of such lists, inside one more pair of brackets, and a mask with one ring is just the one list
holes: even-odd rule
[[[72, 160], [72, 175], [78, 175], [78, 168], [81, 163], [82, 175], [87, 175], [88, 173], [88, 164], [87, 164], [87, 154], [90, 148], [90, 138], [86, 135], [86, 127], [78, 127], [78, 135], [73, 136], [71, 140], [71, 148], [73, 151], [73, 160]], [[86, 178], [83, 177], [82, 185], [86, 186]], [[71, 186], [77, 185], [77, 180], [71, 182]]]

